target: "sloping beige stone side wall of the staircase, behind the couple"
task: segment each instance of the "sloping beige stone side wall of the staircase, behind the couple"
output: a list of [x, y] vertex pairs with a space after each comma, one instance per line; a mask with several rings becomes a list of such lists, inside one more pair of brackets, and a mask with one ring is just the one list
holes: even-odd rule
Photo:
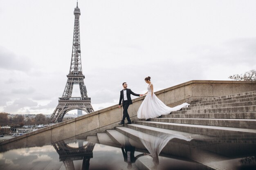
[[[190, 103], [191, 101], [203, 98], [247, 91], [256, 91], [256, 82], [192, 80], [157, 91], [155, 94], [162, 102], [172, 107], [184, 102]], [[128, 109], [131, 120], [137, 120], [137, 110], [144, 98], [145, 96], [132, 100], [133, 104]], [[123, 108], [118, 108], [118, 105], [114, 105], [88, 115], [63, 121], [53, 126], [2, 141], [0, 142], [0, 149], [9, 150], [15, 148], [17, 144], [19, 146], [21, 145], [20, 147], [42, 146], [70, 137], [85, 139], [88, 135], [96, 135], [97, 132], [104, 132], [107, 129], [120, 126], [118, 123], [122, 119], [122, 113]]]

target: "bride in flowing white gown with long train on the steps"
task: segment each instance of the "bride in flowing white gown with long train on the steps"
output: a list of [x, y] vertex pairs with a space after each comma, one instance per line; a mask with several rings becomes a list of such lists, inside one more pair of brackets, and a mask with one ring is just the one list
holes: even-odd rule
[[172, 111], [180, 110], [181, 108], [189, 106], [188, 103], [183, 103], [173, 108], [166, 106], [153, 93], [153, 84], [150, 82], [149, 76], [145, 78], [145, 81], [148, 84], [148, 91], [144, 94], [146, 97], [139, 106], [139, 110], [137, 112], [137, 117], [139, 119], [149, 119], [159, 117], [161, 115], [168, 115]]

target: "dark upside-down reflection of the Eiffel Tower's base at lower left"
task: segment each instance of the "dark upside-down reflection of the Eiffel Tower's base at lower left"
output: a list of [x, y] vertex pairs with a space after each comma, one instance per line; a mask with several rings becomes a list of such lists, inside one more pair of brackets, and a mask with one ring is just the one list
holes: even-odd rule
[[92, 158], [92, 151], [95, 145], [94, 143], [88, 142], [83, 145], [83, 141], [79, 141], [78, 148], [68, 146], [65, 141], [59, 141], [52, 145], [58, 152], [59, 160], [63, 161], [66, 170], [74, 170], [73, 161], [82, 159], [82, 170], [89, 170], [90, 159]]

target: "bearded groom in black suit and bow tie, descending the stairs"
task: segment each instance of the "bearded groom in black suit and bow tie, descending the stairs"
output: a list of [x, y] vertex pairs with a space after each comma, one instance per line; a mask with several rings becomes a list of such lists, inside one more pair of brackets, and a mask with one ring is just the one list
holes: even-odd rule
[[123, 83], [123, 87], [124, 87], [124, 89], [120, 91], [120, 99], [119, 99], [118, 107], [119, 108], [121, 107], [120, 105], [121, 105], [121, 102], [122, 102], [124, 112], [123, 112], [123, 119], [121, 120], [119, 125], [124, 124], [125, 118], [127, 118], [127, 120], [128, 120], [127, 124], [132, 124], [132, 121], [131, 121], [130, 116], [129, 116], [128, 111], [127, 111], [129, 105], [132, 104], [131, 94], [134, 95], [134, 96], [142, 96], [142, 95], [138, 95], [136, 93], [133, 93], [131, 91], [131, 89], [127, 88], [127, 83], [126, 82]]

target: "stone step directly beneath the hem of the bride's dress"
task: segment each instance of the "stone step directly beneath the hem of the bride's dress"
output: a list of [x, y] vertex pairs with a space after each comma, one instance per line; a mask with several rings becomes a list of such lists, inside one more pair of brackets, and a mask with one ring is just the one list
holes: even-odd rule
[[256, 119], [151, 118], [150, 121], [256, 129]]

